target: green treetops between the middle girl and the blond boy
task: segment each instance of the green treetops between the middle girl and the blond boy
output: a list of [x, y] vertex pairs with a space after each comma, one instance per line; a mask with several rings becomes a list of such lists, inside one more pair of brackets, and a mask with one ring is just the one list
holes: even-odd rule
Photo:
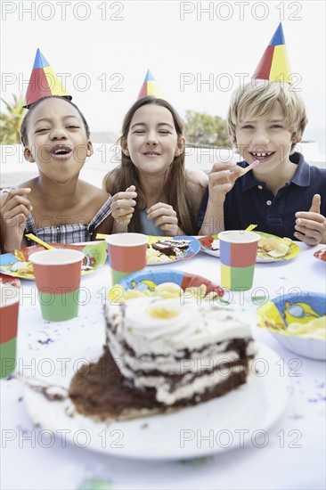
[[207, 112], [186, 110], [184, 136], [194, 146], [232, 147], [226, 121]]

